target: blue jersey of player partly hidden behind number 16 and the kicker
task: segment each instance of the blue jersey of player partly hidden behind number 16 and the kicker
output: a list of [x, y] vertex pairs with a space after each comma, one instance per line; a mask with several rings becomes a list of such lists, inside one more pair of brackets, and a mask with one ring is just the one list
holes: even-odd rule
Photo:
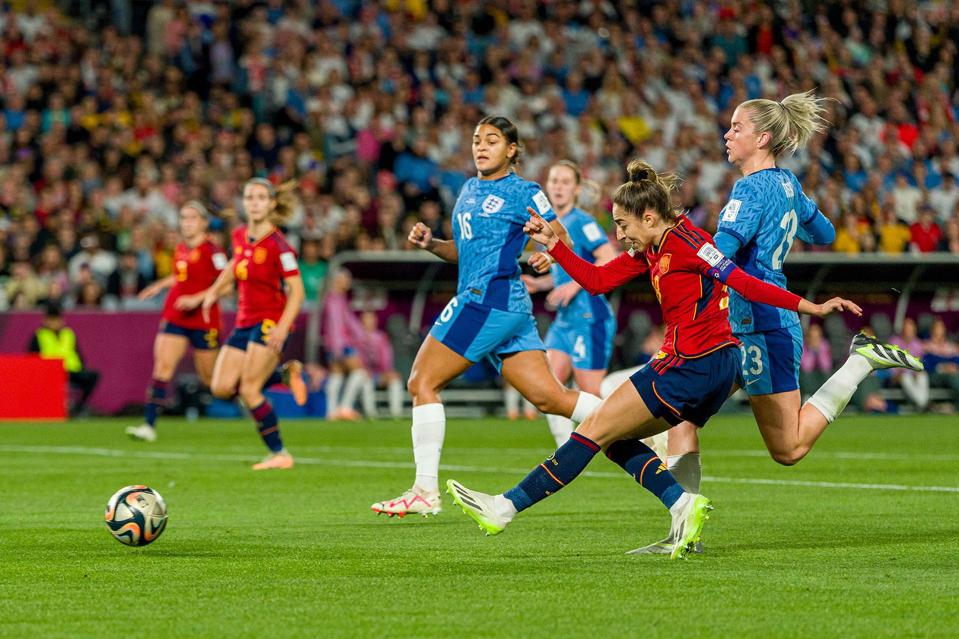
[[[561, 221], [569, 231], [570, 239], [573, 240], [573, 252], [583, 260], [591, 264], [595, 263], [596, 258], [593, 257], [593, 252], [609, 240], [593, 216], [582, 209], [574, 208], [563, 216]], [[550, 266], [550, 273], [553, 286], [573, 282], [573, 278], [567, 275], [557, 263]], [[587, 291], [581, 290], [570, 304], [557, 310], [556, 321], [568, 324], [596, 324], [612, 316], [613, 309], [610, 308], [605, 295], [590, 295]]]

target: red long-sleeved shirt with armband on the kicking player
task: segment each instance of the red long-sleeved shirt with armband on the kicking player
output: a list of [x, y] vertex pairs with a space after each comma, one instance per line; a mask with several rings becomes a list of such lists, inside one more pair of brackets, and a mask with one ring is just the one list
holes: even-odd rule
[[726, 286], [748, 300], [791, 310], [802, 299], [747, 275], [723, 257], [709, 233], [682, 216], [645, 252], [627, 251], [602, 266], [582, 260], [562, 242], [550, 255], [593, 295], [649, 273], [666, 322], [661, 351], [680, 357], [701, 357], [739, 343], [729, 324]]

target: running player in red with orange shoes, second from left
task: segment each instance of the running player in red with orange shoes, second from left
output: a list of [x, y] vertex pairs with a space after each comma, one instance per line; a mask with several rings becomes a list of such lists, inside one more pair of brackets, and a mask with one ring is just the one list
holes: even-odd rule
[[[293, 466], [263, 388], [273, 380], [279, 381], [280, 354], [305, 297], [296, 253], [277, 228], [292, 216], [295, 188], [296, 183], [291, 181], [274, 189], [269, 181], [257, 177], [246, 183], [243, 206], [249, 221], [233, 230], [233, 258], [207, 289], [202, 302], [205, 316], [216, 306], [217, 298], [236, 282], [236, 328], [217, 357], [211, 390], [219, 398], [230, 398], [239, 383], [240, 397], [269, 448], [267, 458], [256, 464], [254, 470]], [[299, 374], [299, 362], [290, 364], [294, 368], [286, 370], [286, 381], [297, 403], [302, 405], [306, 387]]]

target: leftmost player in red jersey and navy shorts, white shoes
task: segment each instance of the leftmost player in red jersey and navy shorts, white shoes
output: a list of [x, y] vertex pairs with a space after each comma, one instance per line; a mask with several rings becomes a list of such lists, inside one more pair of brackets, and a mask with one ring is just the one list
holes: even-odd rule
[[127, 434], [135, 440], [156, 441], [156, 416], [166, 403], [167, 385], [187, 346], [193, 346], [193, 361], [200, 381], [210, 385], [213, 363], [220, 350], [220, 307], [211, 308], [208, 318], [203, 317], [198, 307], [206, 289], [226, 265], [226, 254], [206, 233], [209, 218], [206, 207], [196, 200], [180, 208], [183, 241], [174, 252], [174, 272], [140, 292], [139, 299], [148, 300], [170, 288], [163, 304], [160, 328], [153, 340], [153, 378], [147, 390], [143, 423], [127, 427]]

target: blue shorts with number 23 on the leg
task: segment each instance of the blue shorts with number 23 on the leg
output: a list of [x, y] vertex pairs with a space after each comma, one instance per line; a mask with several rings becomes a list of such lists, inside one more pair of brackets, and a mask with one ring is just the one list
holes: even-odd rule
[[737, 384], [749, 395], [785, 393], [799, 388], [799, 363], [803, 358], [803, 327], [796, 324], [773, 331], [736, 335], [742, 342], [742, 368]]

